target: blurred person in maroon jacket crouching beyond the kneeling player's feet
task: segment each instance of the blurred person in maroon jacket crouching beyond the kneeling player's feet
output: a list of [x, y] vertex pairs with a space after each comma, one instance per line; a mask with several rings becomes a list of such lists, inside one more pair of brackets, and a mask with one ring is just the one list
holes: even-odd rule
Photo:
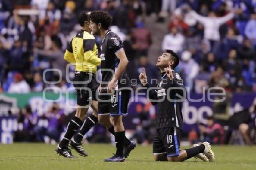
[[203, 141], [211, 144], [224, 144], [224, 130], [219, 123], [214, 122], [212, 116], [207, 117], [207, 126], [199, 125], [200, 134], [204, 135]]

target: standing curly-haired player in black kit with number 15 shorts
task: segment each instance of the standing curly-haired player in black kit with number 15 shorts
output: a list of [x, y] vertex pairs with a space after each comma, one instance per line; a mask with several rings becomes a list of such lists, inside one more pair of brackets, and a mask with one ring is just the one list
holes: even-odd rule
[[[130, 87], [130, 79], [125, 72], [128, 59], [123, 50], [123, 42], [118, 35], [109, 30], [111, 22], [111, 15], [105, 11], [92, 11], [90, 14], [91, 33], [99, 35], [102, 39], [102, 44], [98, 51], [101, 57], [102, 74], [102, 82], [99, 86], [98, 119], [102, 124], [111, 119], [111, 123], [114, 125], [117, 148], [116, 154], [104, 161], [123, 162], [127, 156], [123, 152], [127, 140], [125, 138], [122, 114], [127, 113], [130, 90], [119, 90], [119, 88]], [[130, 141], [128, 140], [127, 142]], [[128, 152], [134, 149], [136, 145], [130, 143], [129, 146], [127, 148]]]

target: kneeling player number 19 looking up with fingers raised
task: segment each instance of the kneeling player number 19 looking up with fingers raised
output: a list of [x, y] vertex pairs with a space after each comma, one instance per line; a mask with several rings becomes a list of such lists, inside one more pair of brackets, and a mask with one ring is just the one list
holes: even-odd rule
[[[184, 161], [193, 156], [203, 161], [214, 161], [214, 153], [208, 142], [193, 145], [190, 149], [180, 149], [182, 133], [182, 100], [185, 88], [179, 74], [173, 69], [179, 64], [179, 58], [172, 50], [165, 50], [158, 57], [156, 66], [161, 71], [161, 81], [154, 89], [148, 89], [147, 96], [153, 105], [158, 104], [157, 133], [153, 141], [153, 155], [156, 161]], [[139, 75], [144, 87], [148, 88], [145, 69]]]

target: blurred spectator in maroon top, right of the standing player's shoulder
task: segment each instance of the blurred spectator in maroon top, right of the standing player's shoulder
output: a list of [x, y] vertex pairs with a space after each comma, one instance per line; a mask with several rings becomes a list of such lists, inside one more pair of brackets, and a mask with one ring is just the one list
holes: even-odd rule
[[133, 30], [134, 47], [138, 51], [138, 55], [148, 55], [148, 48], [152, 44], [151, 33], [144, 27], [143, 23]]

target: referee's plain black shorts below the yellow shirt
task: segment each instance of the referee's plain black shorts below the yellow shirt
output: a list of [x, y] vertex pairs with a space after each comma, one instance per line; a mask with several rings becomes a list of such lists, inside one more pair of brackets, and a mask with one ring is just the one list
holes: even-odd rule
[[94, 73], [75, 71], [73, 85], [76, 88], [76, 103], [78, 105], [86, 106], [89, 104], [90, 100], [97, 100], [96, 90], [99, 84], [96, 81]]

